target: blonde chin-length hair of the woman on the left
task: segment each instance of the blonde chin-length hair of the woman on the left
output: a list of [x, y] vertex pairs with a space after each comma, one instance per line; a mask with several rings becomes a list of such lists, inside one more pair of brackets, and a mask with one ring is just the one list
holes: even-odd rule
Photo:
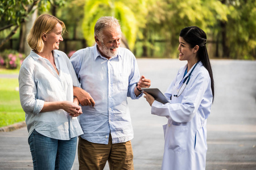
[[64, 33], [65, 24], [55, 16], [49, 14], [42, 14], [38, 16], [27, 35], [27, 42], [30, 48], [36, 52], [42, 52], [44, 48], [44, 42], [42, 39], [43, 34], [51, 32], [57, 23], [60, 23]]

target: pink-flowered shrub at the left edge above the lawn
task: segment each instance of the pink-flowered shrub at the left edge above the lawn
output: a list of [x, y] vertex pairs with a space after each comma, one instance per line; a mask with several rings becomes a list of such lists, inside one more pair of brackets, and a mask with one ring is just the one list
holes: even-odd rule
[[0, 65], [6, 69], [17, 69], [22, 64], [25, 55], [16, 50], [5, 50], [0, 54]]

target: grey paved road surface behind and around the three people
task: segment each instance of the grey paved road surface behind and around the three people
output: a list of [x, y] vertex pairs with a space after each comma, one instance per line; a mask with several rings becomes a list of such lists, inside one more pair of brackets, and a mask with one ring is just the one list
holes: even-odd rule
[[[165, 91], [180, 66], [177, 59], [138, 59], [151, 87]], [[216, 97], [209, 116], [207, 170], [256, 169], [256, 61], [212, 60]], [[160, 169], [162, 125], [145, 99], [128, 100], [134, 128], [135, 170]], [[32, 169], [26, 128], [0, 133], [0, 169]], [[78, 169], [77, 158], [74, 168]], [[109, 169], [106, 167], [105, 169]]]

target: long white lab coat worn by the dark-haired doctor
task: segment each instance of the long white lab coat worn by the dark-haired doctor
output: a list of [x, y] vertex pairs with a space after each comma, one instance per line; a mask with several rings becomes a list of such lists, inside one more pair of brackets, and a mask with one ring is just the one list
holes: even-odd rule
[[163, 170], [205, 169], [206, 124], [213, 95], [209, 73], [201, 62], [193, 70], [183, 93], [179, 97], [174, 97], [183, 79], [193, 67], [185, 76], [187, 65], [179, 69], [176, 78], [164, 94], [168, 99], [172, 95], [170, 103], [162, 104], [154, 101], [152, 104], [151, 114], [168, 118], [168, 123], [163, 125], [165, 139]]

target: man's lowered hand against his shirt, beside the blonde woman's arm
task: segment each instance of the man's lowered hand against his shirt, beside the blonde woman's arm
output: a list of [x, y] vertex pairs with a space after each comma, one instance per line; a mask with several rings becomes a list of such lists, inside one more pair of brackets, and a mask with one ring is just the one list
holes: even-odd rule
[[82, 88], [79, 88], [79, 87], [73, 87], [73, 91], [74, 91], [74, 96], [77, 97], [77, 99], [79, 100], [82, 106], [92, 105], [92, 107], [94, 107], [95, 101], [93, 100], [92, 96], [90, 96], [88, 92], [86, 92], [85, 90], [82, 90]]

